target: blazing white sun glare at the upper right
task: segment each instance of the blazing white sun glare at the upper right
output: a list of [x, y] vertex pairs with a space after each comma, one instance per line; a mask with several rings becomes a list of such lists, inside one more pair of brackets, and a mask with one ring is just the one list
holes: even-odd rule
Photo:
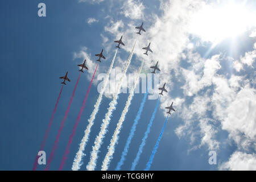
[[207, 5], [192, 17], [189, 31], [213, 44], [255, 26], [255, 13], [245, 4]]

